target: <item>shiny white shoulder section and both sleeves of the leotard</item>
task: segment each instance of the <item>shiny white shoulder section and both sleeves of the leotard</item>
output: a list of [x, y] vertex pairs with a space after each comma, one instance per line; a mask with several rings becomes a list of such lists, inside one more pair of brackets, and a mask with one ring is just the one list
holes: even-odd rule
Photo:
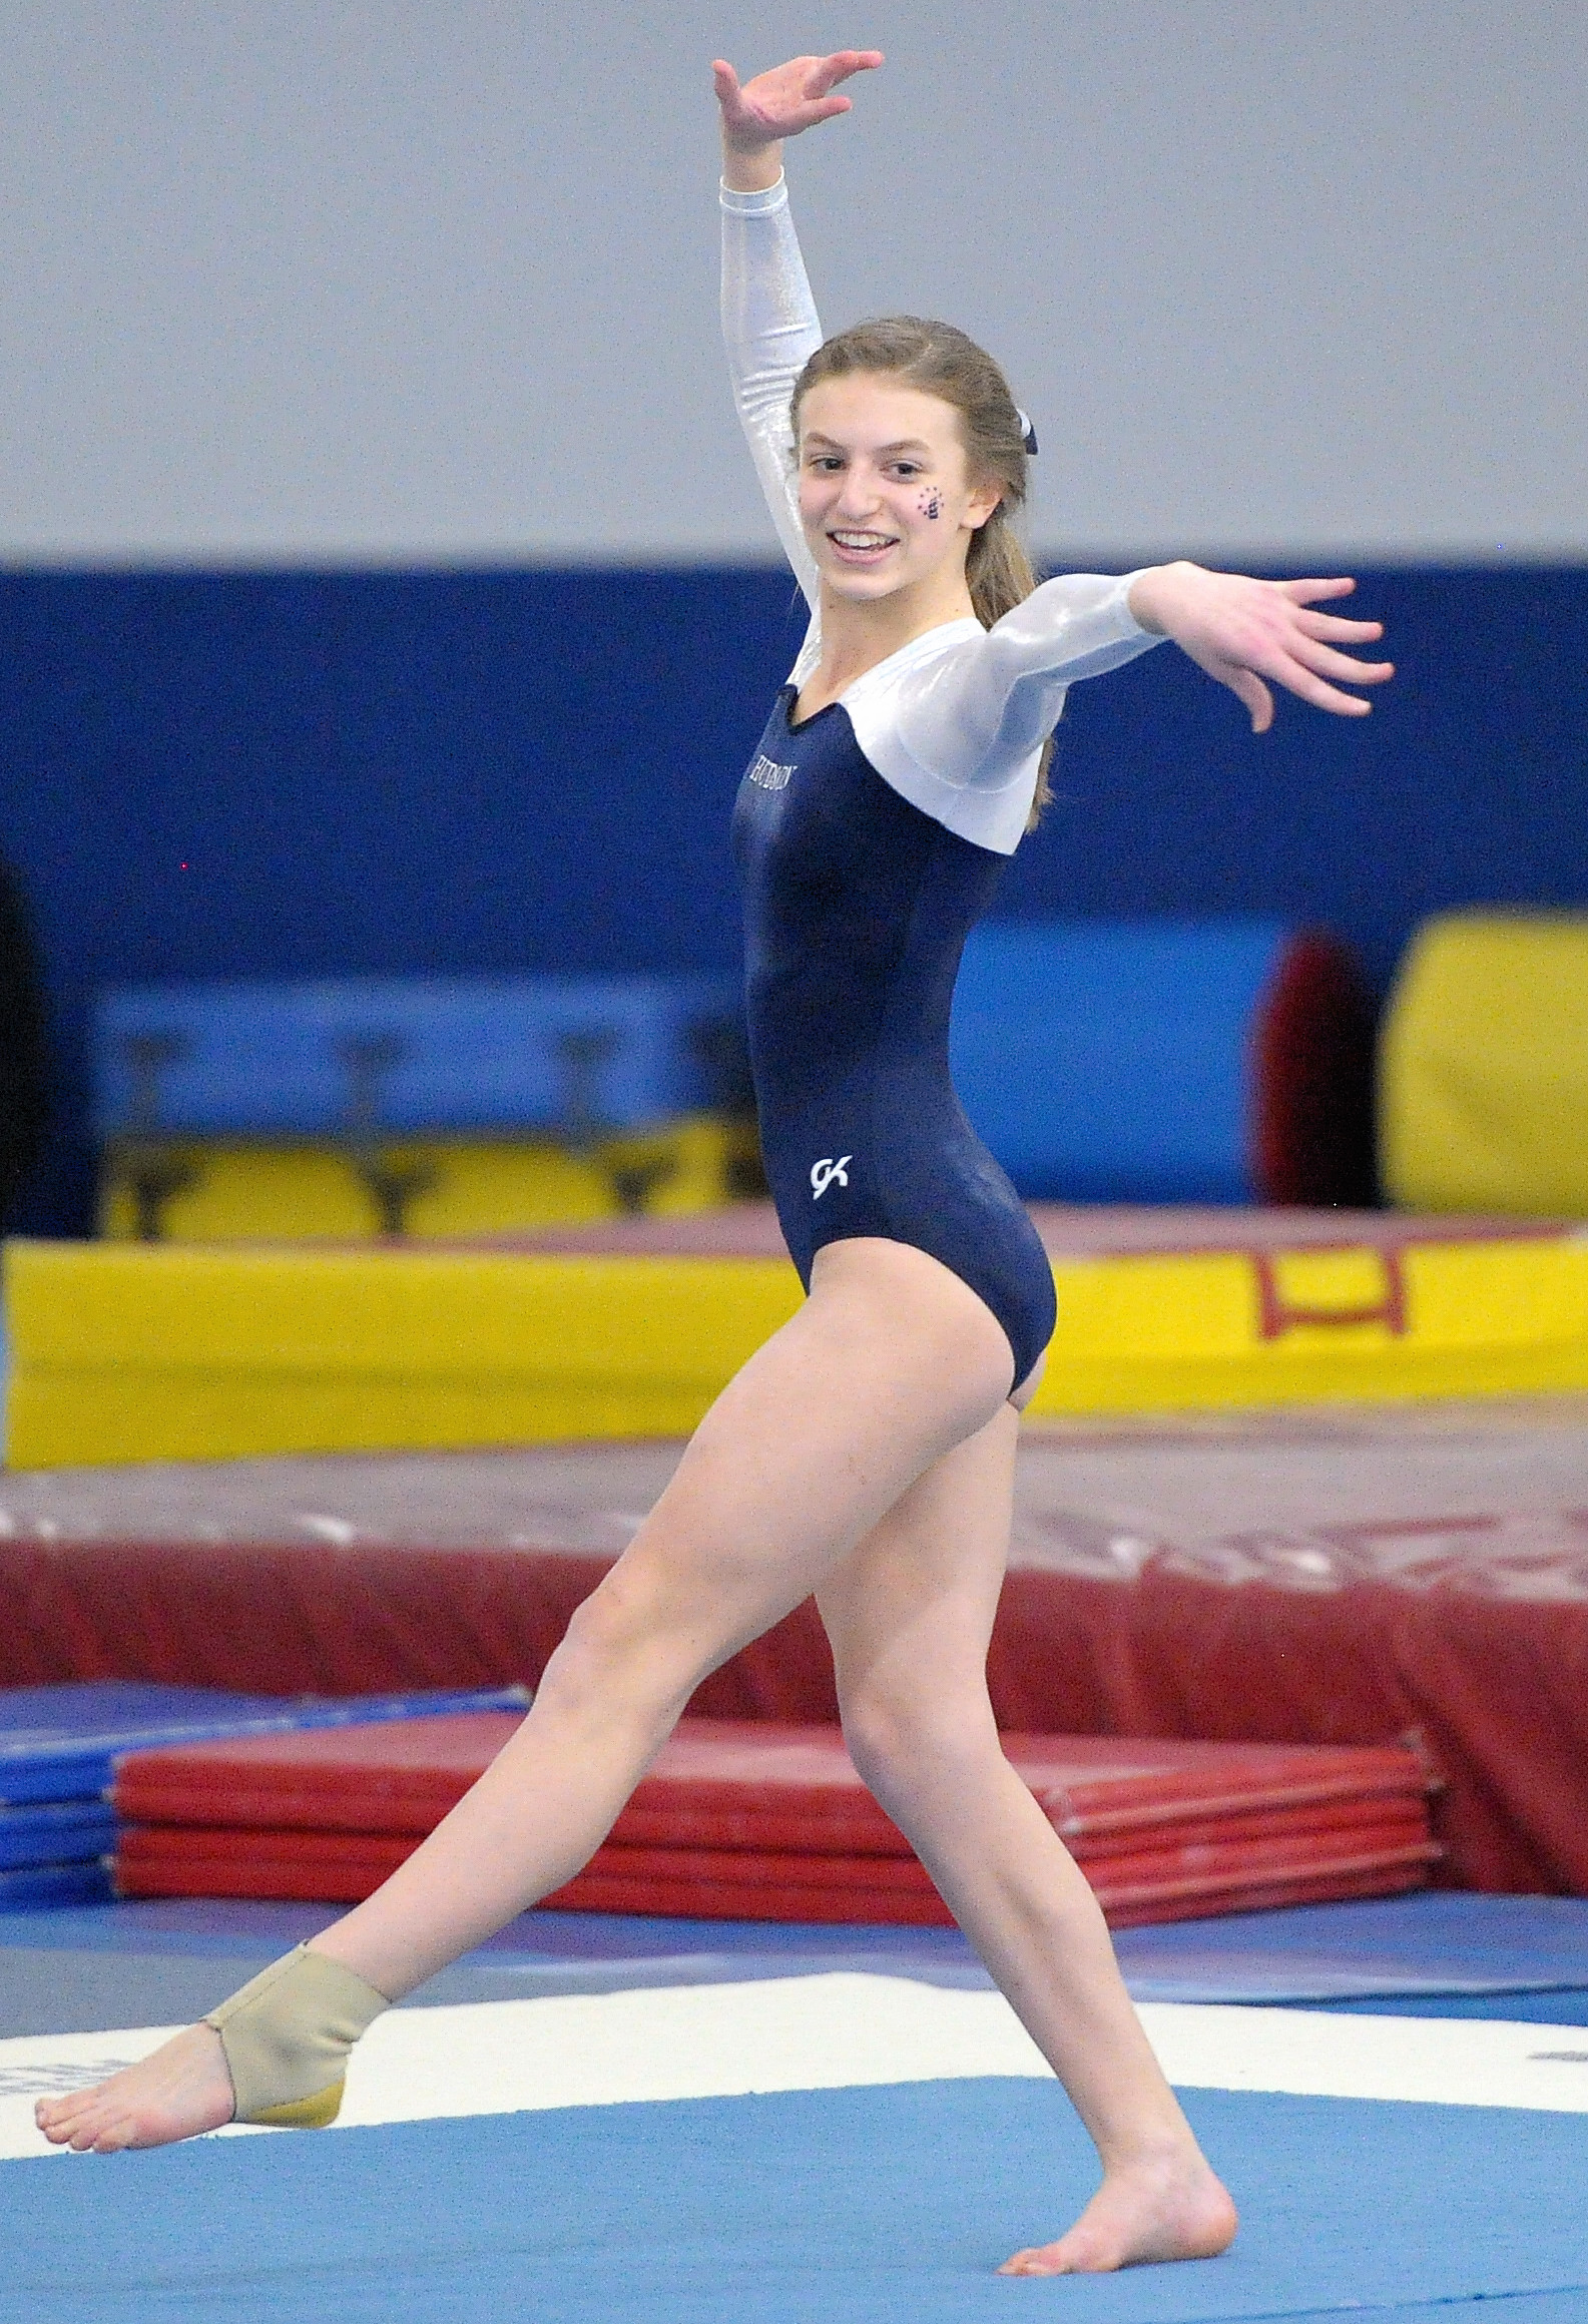
[[[821, 323], [781, 179], [765, 193], [723, 186], [723, 339], [756, 474], [811, 604], [791, 672], [802, 686], [821, 653], [818, 583], [800, 530], [788, 400]], [[867, 669], [839, 700], [877, 774], [951, 832], [1011, 855], [1070, 683], [1160, 644], [1130, 611], [1135, 579], [1063, 574], [990, 630], [951, 621]]]

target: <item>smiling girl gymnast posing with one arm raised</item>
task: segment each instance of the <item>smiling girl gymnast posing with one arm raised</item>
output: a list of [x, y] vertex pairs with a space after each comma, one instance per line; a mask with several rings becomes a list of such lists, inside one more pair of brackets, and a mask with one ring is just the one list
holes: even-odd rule
[[704, 1673], [814, 1590], [856, 1766], [1102, 2161], [1076, 2224], [1007, 2273], [1195, 2259], [1235, 2233], [1102, 1913], [993, 1727], [986, 1650], [1053, 1278], [956, 1104], [949, 997], [1072, 679], [1172, 637], [1260, 732], [1265, 681], [1362, 713], [1339, 683], [1390, 667], [1339, 651], [1376, 623], [1314, 611], [1349, 581], [1165, 565], [1035, 588], [1009, 530], [1028, 423], [990, 358], [909, 318], [823, 346], [781, 139], [849, 112], [837, 84], [877, 65], [802, 56], [744, 88], [716, 65], [735, 393], [814, 614], [735, 816], [763, 1143], [809, 1299], [711, 1406], [467, 1799], [202, 2024], [44, 2101], [60, 2145], [332, 2119], [370, 2020], [579, 1871]]

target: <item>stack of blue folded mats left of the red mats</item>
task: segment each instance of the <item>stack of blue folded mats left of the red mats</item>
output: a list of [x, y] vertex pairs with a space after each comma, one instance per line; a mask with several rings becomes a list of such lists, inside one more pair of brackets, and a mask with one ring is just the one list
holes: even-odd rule
[[0, 1910], [109, 1899], [116, 1813], [107, 1794], [121, 1752], [446, 1710], [523, 1710], [528, 1701], [523, 1687], [298, 1699], [123, 1678], [0, 1687]]

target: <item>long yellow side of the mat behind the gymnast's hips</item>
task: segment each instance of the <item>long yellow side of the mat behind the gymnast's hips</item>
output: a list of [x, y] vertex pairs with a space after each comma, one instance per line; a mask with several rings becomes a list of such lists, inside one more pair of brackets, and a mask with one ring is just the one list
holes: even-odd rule
[[[7, 1246], [7, 1462], [686, 1434], [781, 1260]], [[1042, 1413], [1588, 1387], [1588, 1241], [1056, 1260]]]

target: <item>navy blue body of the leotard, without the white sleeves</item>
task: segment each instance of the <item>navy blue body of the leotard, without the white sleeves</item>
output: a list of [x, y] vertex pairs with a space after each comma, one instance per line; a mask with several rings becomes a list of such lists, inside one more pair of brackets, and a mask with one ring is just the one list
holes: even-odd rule
[[784, 688], [735, 809], [760, 1146], [800, 1281], [823, 1243], [881, 1234], [990, 1306], [1023, 1380], [1053, 1271], [949, 1078], [960, 951], [1004, 858], [942, 827], [865, 760], [839, 702], [791, 725]]

